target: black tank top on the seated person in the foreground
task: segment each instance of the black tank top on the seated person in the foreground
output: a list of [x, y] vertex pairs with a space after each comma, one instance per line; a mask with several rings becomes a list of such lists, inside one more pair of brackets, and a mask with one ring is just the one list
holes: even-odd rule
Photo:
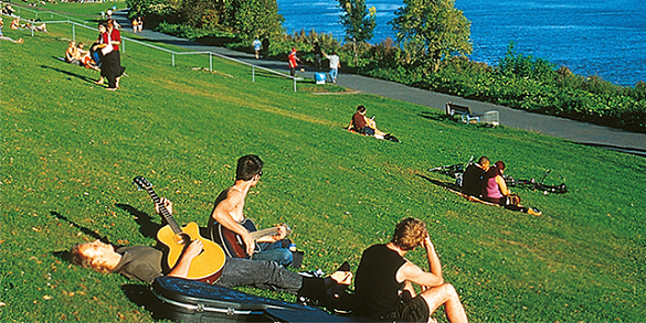
[[398, 270], [406, 261], [385, 245], [363, 251], [354, 278], [354, 312], [359, 316], [380, 317], [396, 312], [403, 282], [396, 281]]

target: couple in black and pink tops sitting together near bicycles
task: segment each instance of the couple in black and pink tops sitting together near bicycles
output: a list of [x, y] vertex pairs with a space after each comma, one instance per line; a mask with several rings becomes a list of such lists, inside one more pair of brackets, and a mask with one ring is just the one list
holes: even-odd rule
[[487, 157], [480, 157], [477, 163], [469, 164], [463, 175], [463, 193], [495, 203], [505, 208], [525, 212], [539, 216], [542, 214], [536, 207], [520, 205], [520, 196], [512, 194], [502, 177], [505, 162], [497, 161], [491, 165]]

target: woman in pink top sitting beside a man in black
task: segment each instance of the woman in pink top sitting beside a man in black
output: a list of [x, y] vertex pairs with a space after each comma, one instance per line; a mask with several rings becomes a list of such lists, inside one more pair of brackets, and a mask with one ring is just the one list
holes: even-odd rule
[[541, 215], [542, 213], [536, 207], [525, 207], [520, 205], [520, 196], [511, 194], [511, 191], [507, 189], [507, 183], [502, 177], [505, 168], [505, 162], [497, 161], [483, 175], [483, 200], [498, 204], [511, 211], [525, 212], [537, 216]]

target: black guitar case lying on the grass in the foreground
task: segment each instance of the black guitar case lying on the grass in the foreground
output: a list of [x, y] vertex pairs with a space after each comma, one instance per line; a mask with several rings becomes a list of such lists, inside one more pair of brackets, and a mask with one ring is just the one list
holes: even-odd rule
[[[150, 287], [155, 319], [182, 322], [346, 322], [321, 309], [255, 297], [195, 280], [159, 277]], [[275, 310], [272, 314], [268, 310]], [[280, 314], [278, 314], [280, 313]], [[277, 321], [279, 317], [280, 321]]]

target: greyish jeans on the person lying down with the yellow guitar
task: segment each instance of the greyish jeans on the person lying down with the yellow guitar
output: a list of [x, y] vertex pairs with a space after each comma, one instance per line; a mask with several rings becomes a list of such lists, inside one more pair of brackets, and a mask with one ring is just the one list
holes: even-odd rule
[[296, 293], [303, 287], [303, 277], [274, 261], [226, 258], [218, 286], [241, 286]]

